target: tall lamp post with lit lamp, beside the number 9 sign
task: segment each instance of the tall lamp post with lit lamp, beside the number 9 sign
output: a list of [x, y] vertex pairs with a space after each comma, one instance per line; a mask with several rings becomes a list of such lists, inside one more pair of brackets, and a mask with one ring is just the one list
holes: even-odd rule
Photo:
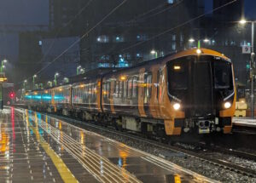
[[255, 75], [255, 63], [254, 63], [254, 25], [255, 25], [255, 20], [254, 21], [247, 21], [247, 20], [240, 20], [239, 23], [244, 25], [246, 23], [251, 23], [252, 24], [252, 51], [251, 51], [251, 75], [252, 75], [252, 82], [251, 82], [251, 114], [252, 114], [252, 118], [254, 118], [254, 83], [253, 83], [253, 77]]

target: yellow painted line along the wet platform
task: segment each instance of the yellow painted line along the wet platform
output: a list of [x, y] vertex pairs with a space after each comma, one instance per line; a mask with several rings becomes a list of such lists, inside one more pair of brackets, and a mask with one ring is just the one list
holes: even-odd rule
[[[44, 152], [47, 153], [47, 155], [51, 158], [52, 162], [55, 164], [55, 168], [58, 170], [59, 174], [61, 175], [61, 179], [64, 182], [79, 182], [73, 174], [70, 172], [70, 170], [67, 168], [66, 164], [62, 161], [61, 157], [59, 157], [55, 151], [52, 150], [52, 148], [49, 146], [49, 144], [44, 140], [44, 138], [39, 134], [38, 127], [32, 127], [32, 125], [27, 121], [29, 128], [32, 129], [33, 133], [36, 134], [37, 140], [40, 143], [40, 145], [44, 148]], [[37, 123], [37, 122], [35, 122]], [[36, 124], [36, 126], [38, 126]]]

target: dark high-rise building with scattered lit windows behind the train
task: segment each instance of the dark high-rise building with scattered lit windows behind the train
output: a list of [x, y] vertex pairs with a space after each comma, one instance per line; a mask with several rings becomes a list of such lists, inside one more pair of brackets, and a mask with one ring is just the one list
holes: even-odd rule
[[[243, 0], [131, 0], [96, 26], [121, 2], [49, 1], [52, 35], [57, 32], [60, 37], [81, 37], [80, 64], [86, 71], [134, 66], [155, 56], [195, 47], [201, 41], [201, 47], [229, 56], [236, 77], [247, 82], [244, 73], [249, 56], [241, 54], [241, 46], [250, 44], [250, 30], [249, 25], [242, 27], [235, 22], [243, 16]], [[192, 37], [195, 42], [189, 43]]]

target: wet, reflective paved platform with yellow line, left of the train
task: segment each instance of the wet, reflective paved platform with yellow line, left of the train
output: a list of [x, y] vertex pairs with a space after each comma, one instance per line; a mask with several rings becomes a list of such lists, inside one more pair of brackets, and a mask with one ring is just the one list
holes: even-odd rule
[[38, 112], [0, 116], [0, 182], [214, 182]]

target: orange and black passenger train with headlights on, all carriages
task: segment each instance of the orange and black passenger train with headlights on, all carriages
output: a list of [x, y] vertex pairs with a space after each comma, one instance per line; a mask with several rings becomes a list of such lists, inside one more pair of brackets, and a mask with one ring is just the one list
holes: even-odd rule
[[189, 49], [77, 83], [24, 94], [31, 109], [159, 136], [228, 134], [236, 109], [224, 54]]

